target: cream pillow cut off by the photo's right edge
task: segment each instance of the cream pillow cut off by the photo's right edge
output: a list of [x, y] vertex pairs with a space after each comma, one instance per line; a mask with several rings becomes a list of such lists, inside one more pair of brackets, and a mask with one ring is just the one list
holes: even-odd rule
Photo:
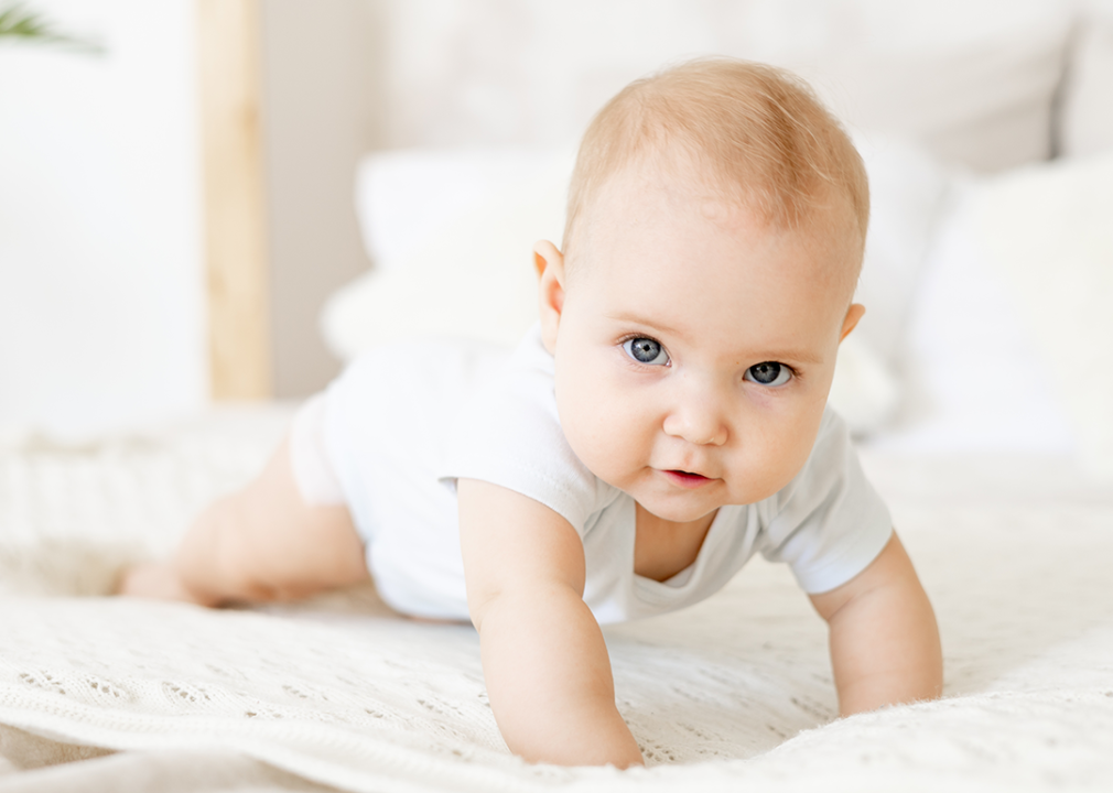
[[992, 179], [971, 207], [1081, 462], [1113, 480], [1113, 149]]

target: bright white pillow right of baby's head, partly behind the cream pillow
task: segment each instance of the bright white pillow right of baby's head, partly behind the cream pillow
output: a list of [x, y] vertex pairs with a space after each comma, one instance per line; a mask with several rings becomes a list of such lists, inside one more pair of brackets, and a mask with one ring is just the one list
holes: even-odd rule
[[903, 339], [905, 387], [870, 443], [909, 454], [1070, 455], [1065, 414], [971, 218], [967, 187], [940, 220]]

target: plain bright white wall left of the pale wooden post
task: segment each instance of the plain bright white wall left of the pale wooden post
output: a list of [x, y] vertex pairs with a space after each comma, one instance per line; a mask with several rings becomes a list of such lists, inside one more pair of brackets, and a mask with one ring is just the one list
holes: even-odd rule
[[0, 44], [0, 433], [206, 400], [191, 0], [35, 0], [101, 57]]

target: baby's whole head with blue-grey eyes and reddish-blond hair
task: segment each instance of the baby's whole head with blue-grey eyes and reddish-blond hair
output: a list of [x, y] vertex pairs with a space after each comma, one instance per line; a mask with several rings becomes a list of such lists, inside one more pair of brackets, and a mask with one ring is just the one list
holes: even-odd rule
[[731, 60], [628, 86], [584, 136], [541, 318], [573, 450], [691, 521], [772, 495], [815, 443], [869, 214], [865, 169], [798, 80]]

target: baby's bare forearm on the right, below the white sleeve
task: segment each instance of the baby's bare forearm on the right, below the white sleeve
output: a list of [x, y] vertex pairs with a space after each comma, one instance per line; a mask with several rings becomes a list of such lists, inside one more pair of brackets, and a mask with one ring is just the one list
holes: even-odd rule
[[935, 614], [896, 534], [866, 569], [811, 603], [830, 626], [841, 715], [939, 696]]

